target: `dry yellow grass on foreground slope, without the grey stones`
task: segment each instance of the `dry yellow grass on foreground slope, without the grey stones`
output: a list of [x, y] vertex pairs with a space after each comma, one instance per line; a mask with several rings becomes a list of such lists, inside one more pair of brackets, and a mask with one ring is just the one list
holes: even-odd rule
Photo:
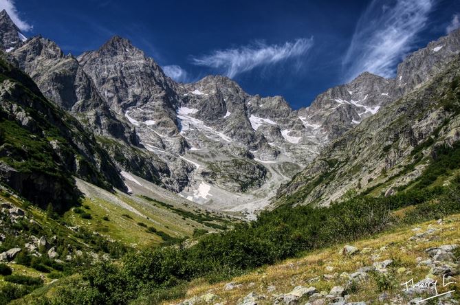
[[[413, 229], [420, 228], [419, 231]], [[428, 241], [409, 240], [417, 232], [426, 231], [428, 228], [436, 229]], [[342, 272], [353, 273], [360, 267], [372, 265], [375, 261], [392, 259], [390, 273], [393, 274], [391, 284], [393, 287], [386, 291], [390, 297], [403, 295], [401, 283], [414, 279], [415, 282], [423, 280], [429, 273], [429, 267], [417, 267], [417, 258], [428, 258], [425, 249], [439, 245], [460, 244], [460, 214], [449, 216], [440, 225], [436, 221], [428, 221], [410, 227], [402, 227], [378, 234], [374, 238], [367, 238], [351, 242], [349, 245], [358, 247], [360, 253], [353, 256], [342, 256], [339, 251], [344, 245], [337, 245], [328, 249], [322, 249], [306, 253], [303, 258], [286, 260], [280, 264], [269, 267], [261, 267], [238, 278], [217, 284], [208, 284], [204, 280], [195, 280], [188, 286], [184, 299], [194, 296], [213, 293], [219, 297], [217, 302], [222, 304], [237, 304], [238, 300], [252, 291], [266, 295], [267, 299], [259, 304], [272, 304], [272, 296], [281, 293], [289, 293], [295, 286], [314, 286], [318, 291], [329, 291], [333, 286], [345, 285], [348, 279], [340, 278]], [[362, 251], [364, 248], [370, 248]], [[369, 252], [368, 252], [369, 251]], [[374, 257], [373, 257], [374, 256]], [[406, 271], [402, 271], [404, 267]], [[327, 280], [323, 275], [336, 275]], [[309, 282], [312, 278], [320, 277], [318, 281]], [[440, 279], [442, 280], [442, 279]], [[228, 282], [241, 284], [239, 288], [226, 291], [223, 287]], [[456, 278], [455, 286], [442, 288], [438, 286], [439, 293], [446, 289], [455, 289], [460, 292], [460, 278]], [[269, 293], [267, 287], [276, 286], [276, 291]], [[441, 285], [442, 286], [442, 285]], [[350, 293], [349, 302], [366, 301], [373, 304], [382, 292], [374, 278], [370, 277], [366, 282], [355, 287]], [[459, 294], [454, 295], [459, 297]], [[408, 299], [410, 300], [410, 298]], [[183, 300], [165, 302], [164, 304], [177, 304]]]

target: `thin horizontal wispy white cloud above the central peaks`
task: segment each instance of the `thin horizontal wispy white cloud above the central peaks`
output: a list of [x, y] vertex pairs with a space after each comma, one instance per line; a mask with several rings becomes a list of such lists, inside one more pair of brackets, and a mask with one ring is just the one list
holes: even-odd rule
[[312, 46], [313, 38], [299, 38], [283, 45], [267, 45], [259, 41], [253, 45], [218, 50], [206, 56], [192, 58], [192, 63], [218, 69], [233, 78], [256, 67], [273, 65], [289, 58], [303, 56]]

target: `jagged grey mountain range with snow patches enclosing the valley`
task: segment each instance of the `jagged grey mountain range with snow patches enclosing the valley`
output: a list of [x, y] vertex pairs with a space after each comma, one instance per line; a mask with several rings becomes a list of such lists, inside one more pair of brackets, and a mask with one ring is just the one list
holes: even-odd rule
[[47, 38], [25, 39], [5, 11], [0, 22], [5, 58], [93, 133], [119, 172], [248, 217], [337, 139], [371, 124], [377, 119], [370, 117], [446, 69], [460, 46], [454, 31], [410, 54], [395, 78], [364, 72], [294, 111], [280, 96], [250, 95], [223, 76], [177, 83], [120, 36], [73, 56]]

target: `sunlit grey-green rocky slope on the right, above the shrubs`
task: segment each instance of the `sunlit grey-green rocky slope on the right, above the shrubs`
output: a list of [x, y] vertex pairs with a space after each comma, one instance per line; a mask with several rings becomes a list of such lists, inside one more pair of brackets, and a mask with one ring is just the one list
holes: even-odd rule
[[[458, 42], [458, 36], [460, 31], [452, 32], [449, 39], [441, 38], [439, 41], [454, 44]], [[460, 44], [449, 45], [448, 49], [460, 50]], [[422, 51], [419, 54], [428, 52]], [[433, 53], [437, 56], [437, 52]], [[446, 57], [445, 60], [448, 59]], [[457, 142], [460, 139], [460, 118], [441, 105], [440, 97], [457, 90], [455, 87], [452, 89], [451, 82], [452, 78], [460, 74], [459, 66], [458, 58], [443, 62], [442, 73], [428, 80], [420, 79], [412, 91], [403, 91], [401, 98], [386, 104], [378, 113], [325, 146], [316, 161], [278, 192], [278, 200], [275, 202], [280, 204], [289, 201], [293, 194], [308, 189], [305, 181], [315, 181], [321, 174], [325, 174], [331, 183], [317, 185], [307, 194], [299, 194], [303, 201], [298, 203], [320, 201], [328, 205], [331, 201], [340, 200], [347, 190], [362, 192], [399, 174], [402, 168], [413, 162], [410, 152], [430, 138], [434, 139], [434, 144], [421, 151], [423, 156], [436, 154], [437, 146], [443, 143], [452, 145]], [[440, 133], [435, 133], [437, 128], [441, 129]], [[422, 164], [415, 166], [389, 186], [405, 185], [419, 177], [423, 169]]]

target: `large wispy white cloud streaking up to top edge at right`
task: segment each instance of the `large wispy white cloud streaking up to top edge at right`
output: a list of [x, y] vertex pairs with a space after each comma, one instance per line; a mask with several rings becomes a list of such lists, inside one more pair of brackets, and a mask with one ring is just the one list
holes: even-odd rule
[[386, 78], [410, 52], [435, 0], [373, 0], [360, 17], [346, 56], [345, 80], [369, 71]]

